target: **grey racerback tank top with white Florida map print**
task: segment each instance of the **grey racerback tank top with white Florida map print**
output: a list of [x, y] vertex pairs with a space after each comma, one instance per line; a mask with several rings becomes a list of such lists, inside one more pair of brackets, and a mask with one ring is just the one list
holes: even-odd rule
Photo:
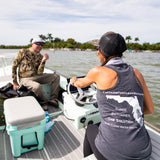
[[152, 147], [144, 126], [142, 86], [121, 58], [112, 58], [105, 66], [116, 71], [118, 81], [107, 90], [97, 89], [102, 120], [96, 147], [107, 160], [146, 160]]

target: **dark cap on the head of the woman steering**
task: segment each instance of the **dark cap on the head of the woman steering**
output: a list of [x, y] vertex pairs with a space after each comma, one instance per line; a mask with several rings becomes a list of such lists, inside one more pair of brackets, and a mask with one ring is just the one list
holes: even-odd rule
[[127, 49], [124, 38], [114, 32], [105, 33], [99, 41], [99, 47], [109, 56], [121, 56]]

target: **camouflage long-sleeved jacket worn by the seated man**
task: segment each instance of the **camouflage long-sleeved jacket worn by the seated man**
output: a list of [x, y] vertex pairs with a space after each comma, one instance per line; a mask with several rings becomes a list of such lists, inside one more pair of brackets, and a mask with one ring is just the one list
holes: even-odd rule
[[13, 83], [17, 83], [17, 68], [19, 78], [42, 74], [45, 66], [45, 62], [41, 62], [42, 58], [43, 55], [40, 53], [31, 52], [30, 48], [21, 49], [16, 55], [12, 65]]

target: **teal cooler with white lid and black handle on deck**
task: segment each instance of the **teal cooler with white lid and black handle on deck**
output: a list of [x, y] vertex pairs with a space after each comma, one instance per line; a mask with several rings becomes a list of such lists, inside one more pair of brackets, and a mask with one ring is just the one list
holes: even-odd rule
[[4, 101], [7, 133], [12, 154], [19, 157], [44, 146], [45, 112], [32, 96], [10, 98]]

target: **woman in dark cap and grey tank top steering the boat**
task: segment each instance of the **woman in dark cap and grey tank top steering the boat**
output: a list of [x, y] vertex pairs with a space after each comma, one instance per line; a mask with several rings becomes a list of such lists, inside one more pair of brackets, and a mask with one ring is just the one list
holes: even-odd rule
[[144, 114], [153, 113], [154, 106], [142, 74], [121, 59], [125, 50], [120, 34], [105, 33], [97, 50], [102, 65], [71, 79], [80, 88], [97, 84], [101, 124], [88, 126], [84, 157], [94, 153], [98, 160], [149, 160], [151, 155]]

